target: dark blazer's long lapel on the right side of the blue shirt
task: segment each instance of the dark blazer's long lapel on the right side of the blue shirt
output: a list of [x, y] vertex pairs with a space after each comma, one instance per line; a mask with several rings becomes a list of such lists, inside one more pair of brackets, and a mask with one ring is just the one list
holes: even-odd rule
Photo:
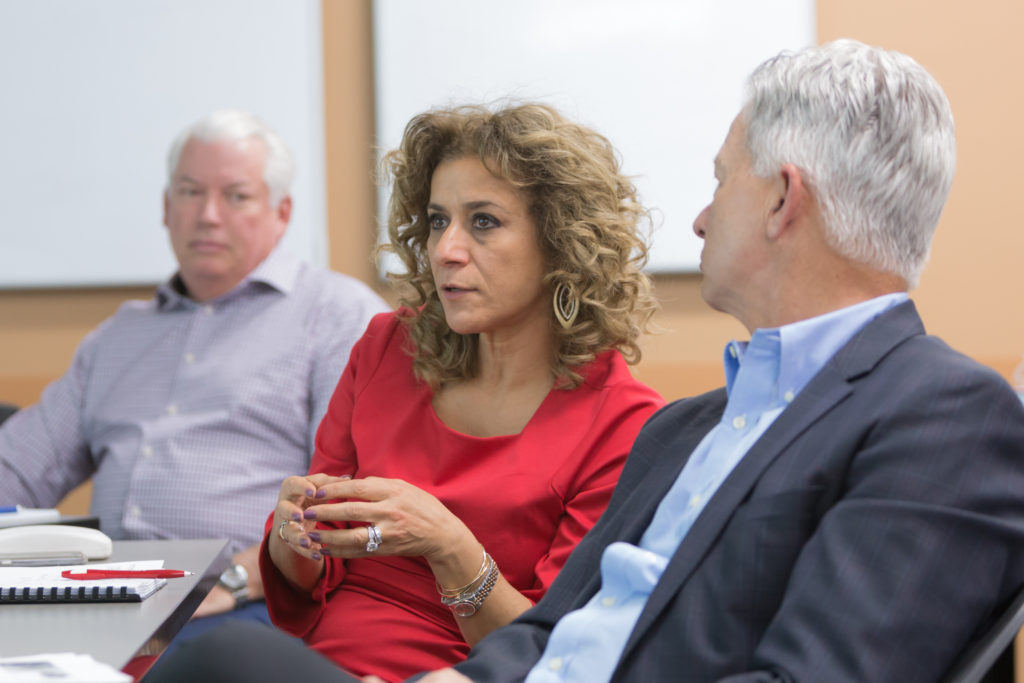
[[[694, 521], [647, 600], [627, 641], [625, 652], [636, 646], [654, 618], [696, 569], [765, 468], [786, 445], [853, 390], [851, 380], [869, 373], [895, 346], [918, 334], [924, 334], [924, 326], [913, 302], [900, 304], [865, 326], [808, 383], [797, 399], [751, 446]], [[675, 474], [678, 475], [678, 472], [679, 469]], [[649, 515], [645, 514], [646, 522], [635, 537], [637, 540], [650, 522], [653, 509], [674, 481], [675, 476], [659, 489], [657, 496], [651, 490], [641, 492], [653, 500], [653, 507]]]

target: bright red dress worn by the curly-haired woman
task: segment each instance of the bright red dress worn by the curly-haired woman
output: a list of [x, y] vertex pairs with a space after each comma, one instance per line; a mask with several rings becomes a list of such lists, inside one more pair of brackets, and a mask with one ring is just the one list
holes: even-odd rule
[[[536, 602], [603, 512], [633, 439], [665, 401], [608, 351], [583, 369], [578, 388], [552, 389], [519, 434], [467, 436], [437, 418], [402, 350], [408, 339], [396, 313], [371, 322], [321, 423], [309, 471], [399, 478], [429, 492]], [[469, 651], [423, 558], [330, 558], [311, 599], [265, 547], [260, 570], [273, 622], [354, 675], [400, 680]]]

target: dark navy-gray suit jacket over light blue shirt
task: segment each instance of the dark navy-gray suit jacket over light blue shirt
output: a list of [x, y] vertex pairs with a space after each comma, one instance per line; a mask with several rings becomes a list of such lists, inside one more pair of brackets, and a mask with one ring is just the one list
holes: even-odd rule
[[[547, 596], [457, 667], [518, 681], [639, 541], [725, 391], [645, 425]], [[673, 556], [614, 681], [936, 681], [1024, 583], [1024, 409], [908, 302], [857, 334], [751, 449]]]

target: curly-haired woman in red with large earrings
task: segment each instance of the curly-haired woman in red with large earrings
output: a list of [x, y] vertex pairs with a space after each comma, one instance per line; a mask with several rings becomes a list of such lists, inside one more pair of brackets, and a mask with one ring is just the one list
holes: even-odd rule
[[[398, 680], [544, 595], [664, 401], [626, 365], [655, 309], [647, 213], [604, 137], [543, 104], [460, 106], [415, 117], [383, 168], [402, 305], [353, 348], [260, 566], [279, 627]], [[218, 666], [197, 647], [177, 659]], [[251, 649], [226, 678], [302, 673]]]

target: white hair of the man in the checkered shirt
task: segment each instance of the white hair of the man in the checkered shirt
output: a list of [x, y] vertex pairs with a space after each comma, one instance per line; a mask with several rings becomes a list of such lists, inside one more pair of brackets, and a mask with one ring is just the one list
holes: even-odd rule
[[178, 170], [181, 150], [190, 139], [204, 142], [243, 142], [256, 139], [263, 143], [266, 161], [263, 164], [263, 181], [270, 195], [270, 205], [276, 206], [291, 191], [295, 178], [295, 160], [285, 140], [268, 125], [248, 112], [221, 110], [190, 124], [174, 138], [167, 153], [168, 183]]

